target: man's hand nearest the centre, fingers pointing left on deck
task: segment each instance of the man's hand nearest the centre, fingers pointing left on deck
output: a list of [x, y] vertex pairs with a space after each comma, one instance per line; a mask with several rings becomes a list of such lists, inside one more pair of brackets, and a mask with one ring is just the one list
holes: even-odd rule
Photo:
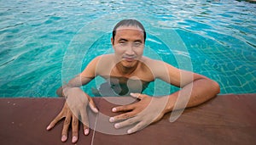
[[114, 124], [117, 129], [127, 125], [134, 125], [127, 131], [128, 134], [131, 134], [160, 120], [166, 113], [168, 97], [150, 97], [140, 93], [131, 93], [131, 97], [140, 101], [112, 109], [113, 112], [125, 111], [124, 114], [119, 114], [109, 119], [110, 122], [120, 121]]

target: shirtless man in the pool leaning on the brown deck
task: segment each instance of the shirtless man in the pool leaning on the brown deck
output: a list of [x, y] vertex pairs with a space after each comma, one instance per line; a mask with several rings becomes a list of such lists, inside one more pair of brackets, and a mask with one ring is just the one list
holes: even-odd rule
[[[115, 25], [111, 38], [114, 53], [98, 56], [91, 60], [81, 74], [57, 90], [57, 94], [65, 96], [67, 100], [60, 114], [51, 121], [47, 130], [65, 118], [61, 141], [67, 141], [68, 128], [72, 122], [72, 142], [77, 142], [79, 120], [76, 116], [80, 116], [80, 120], [84, 124], [84, 135], [89, 134], [86, 107], [89, 105], [95, 113], [98, 110], [93, 99], [82, 91], [80, 86], [86, 85], [98, 75], [107, 81], [99, 89], [102, 96], [122, 95], [139, 100], [136, 103], [117, 106], [112, 109], [113, 112], [121, 112], [121, 114], [110, 117], [109, 121], [118, 122], [114, 124], [117, 129], [132, 125], [127, 131], [128, 134], [160, 120], [164, 114], [173, 109], [193, 107], [218, 94], [218, 83], [206, 76], [179, 70], [163, 61], [144, 57], [145, 40], [146, 31], [137, 20], [121, 20]], [[155, 79], [166, 81], [182, 89], [157, 98], [142, 94], [148, 83]], [[109, 94], [105, 92], [109, 92]], [[177, 101], [177, 98], [181, 101]]]

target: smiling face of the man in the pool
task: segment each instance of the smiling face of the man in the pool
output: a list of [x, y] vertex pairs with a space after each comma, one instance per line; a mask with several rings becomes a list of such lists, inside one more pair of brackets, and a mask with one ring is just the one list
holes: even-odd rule
[[111, 42], [118, 62], [126, 68], [136, 66], [143, 56], [144, 34], [136, 26], [120, 26]]

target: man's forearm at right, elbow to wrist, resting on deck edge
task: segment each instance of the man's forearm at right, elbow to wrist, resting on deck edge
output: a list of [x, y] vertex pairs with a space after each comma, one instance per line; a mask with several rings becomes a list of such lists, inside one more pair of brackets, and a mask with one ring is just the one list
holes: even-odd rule
[[215, 97], [218, 93], [219, 86], [215, 81], [209, 79], [193, 81], [184, 86], [182, 90], [168, 96], [165, 112], [194, 107]]

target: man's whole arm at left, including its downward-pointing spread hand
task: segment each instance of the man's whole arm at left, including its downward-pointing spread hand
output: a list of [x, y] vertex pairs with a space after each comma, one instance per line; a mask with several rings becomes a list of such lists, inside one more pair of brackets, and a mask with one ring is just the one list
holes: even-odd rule
[[72, 123], [72, 142], [75, 143], [78, 141], [79, 138], [79, 115], [81, 117], [81, 122], [84, 124], [84, 135], [88, 135], [90, 128], [89, 128], [89, 121], [86, 112], [87, 105], [89, 104], [90, 109], [97, 113], [98, 110], [96, 109], [96, 105], [93, 102], [92, 98], [88, 94], [82, 91], [79, 88], [82, 85], [86, 85], [90, 82], [94, 77], [96, 77], [96, 64], [97, 58], [93, 59], [90, 64], [86, 66], [84, 71], [74, 77], [71, 81], [67, 83], [67, 85], [61, 86], [56, 93], [59, 96], [65, 96], [66, 102], [61, 109], [61, 112], [55, 117], [54, 120], [50, 122], [47, 127], [49, 131], [52, 129], [57, 122], [65, 118], [64, 125], [61, 132], [61, 141], [67, 141], [67, 132], [69, 129], [69, 125]]

